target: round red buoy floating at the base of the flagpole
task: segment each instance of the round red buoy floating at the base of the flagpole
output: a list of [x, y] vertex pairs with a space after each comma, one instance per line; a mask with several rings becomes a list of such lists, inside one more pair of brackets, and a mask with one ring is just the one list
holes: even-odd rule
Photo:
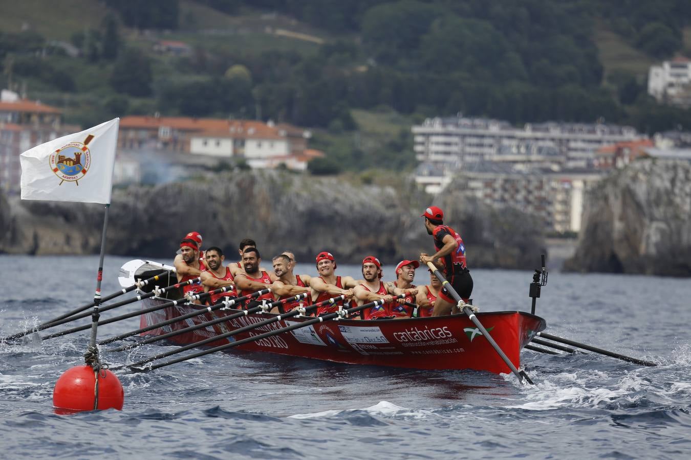
[[[103, 377], [105, 374], [106, 377]], [[95, 377], [91, 366], [75, 366], [57, 379], [53, 390], [53, 406], [58, 413], [93, 410], [95, 401]], [[122, 410], [124, 390], [115, 374], [102, 370], [98, 377], [97, 409]], [[61, 410], [60, 410], [61, 409]]]

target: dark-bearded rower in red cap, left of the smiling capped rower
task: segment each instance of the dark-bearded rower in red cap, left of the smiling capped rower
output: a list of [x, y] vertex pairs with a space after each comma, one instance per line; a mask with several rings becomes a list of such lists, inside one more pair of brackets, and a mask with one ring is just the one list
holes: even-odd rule
[[377, 305], [361, 311], [361, 319], [384, 319], [396, 317], [392, 314], [391, 307], [393, 296], [400, 294], [417, 294], [415, 288], [401, 289], [393, 286], [392, 283], [381, 281], [381, 262], [374, 256], [365, 257], [362, 261], [363, 282], [357, 285], [354, 292], [354, 299], [358, 306], [376, 300], [384, 300], [384, 305]]

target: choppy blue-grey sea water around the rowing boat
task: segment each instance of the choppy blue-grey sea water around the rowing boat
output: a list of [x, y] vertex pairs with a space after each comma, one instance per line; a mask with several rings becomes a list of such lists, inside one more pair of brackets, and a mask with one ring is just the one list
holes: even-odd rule
[[[117, 269], [127, 260], [106, 257], [104, 294], [120, 289]], [[0, 256], [0, 335], [89, 303], [97, 263]], [[314, 266], [299, 265], [300, 273], [314, 274]], [[337, 273], [357, 276], [359, 267], [339, 266]], [[388, 279], [393, 266], [384, 274]], [[530, 310], [530, 271], [472, 274], [481, 311]], [[428, 272], [417, 270], [415, 282], [428, 283]], [[102, 319], [137, 308], [123, 306]], [[46, 331], [0, 344], [2, 457], [691, 456], [691, 280], [552, 272], [537, 313], [551, 334], [659, 366], [524, 350], [522, 367], [536, 383], [527, 386], [512, 374], [348, 366], [236, 350], [149, 373], [117, 371], [122, 411], [64, 416], [53, 411], [53, 386], [83, 363], [89, 331], [41, 341]], [[99, 339], [138, 327], [138, 318], [102, 326]], [[159, 342], [102, 357], [117, 366], [172, 349]]]

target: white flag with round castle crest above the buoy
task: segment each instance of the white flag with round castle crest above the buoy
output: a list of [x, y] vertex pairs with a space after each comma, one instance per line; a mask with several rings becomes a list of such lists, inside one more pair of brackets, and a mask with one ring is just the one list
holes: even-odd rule
[[120, 119], [23, 152], [21, 199], [111, 203]]

